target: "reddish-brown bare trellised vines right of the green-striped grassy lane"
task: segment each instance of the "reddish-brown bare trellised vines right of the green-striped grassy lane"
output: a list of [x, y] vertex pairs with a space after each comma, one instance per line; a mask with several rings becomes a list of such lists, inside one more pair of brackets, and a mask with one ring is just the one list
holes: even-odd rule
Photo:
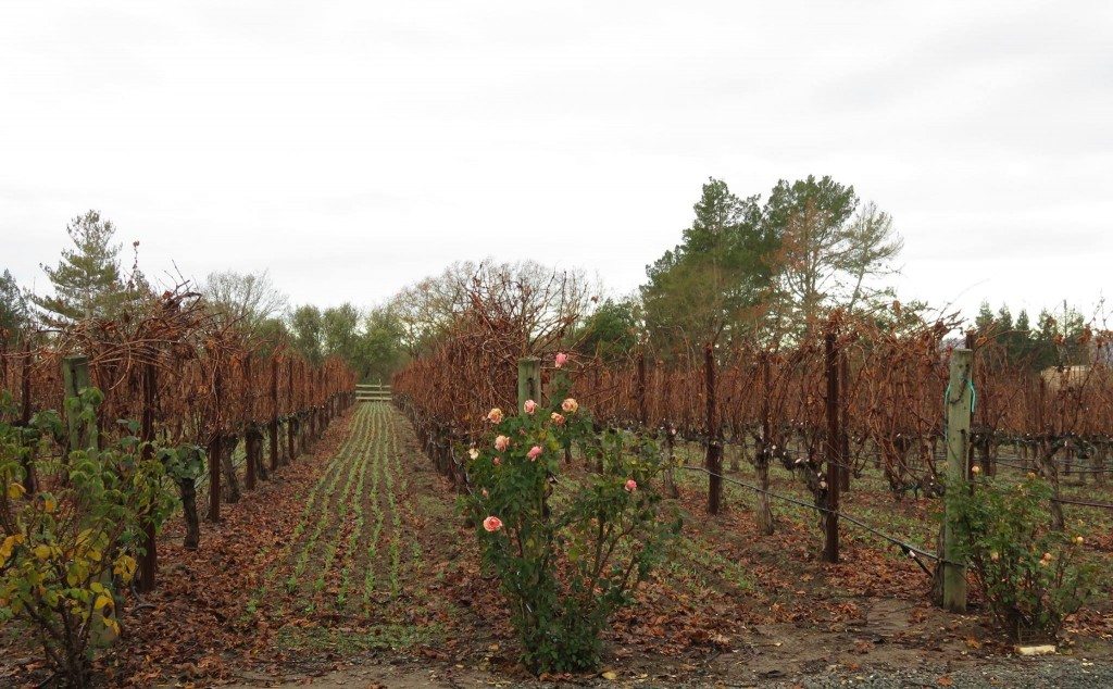
[[[843, 520], [898, 545], [906, 555], [946, 563], [943, 553], [840, 512], [838, 498], [869, 469], [880, 472], [896, 500], [908, 493], [942, 495], [948, 372], [959, 348], [946, 338], [957, 325], [942, 319], [893, 327], [879, 325], [876, 317], [835, 313], [790, 344], [738, 337], [680, 355], [654, 352], [651, 343], [618, 360], [573, 355], [572, 394], [591, 410], [597, 431], [650, 434], [661, 441], [671, 466], [706, 474], [712, 514], [728, 481], [757, 494], [758, 522], [766, 534], [772, 533], [770, 499], [801, 502], [770, 491], [769, 469], [777, 463], [810, 492], [812, 502], [804, 504], [815, 509], [825, 532], [826, 560], [838, 559]], [[1082, 338], [1090, 363], [1051, 371], [1011, 358], [992, 335], [968, 336], [965, 343], [974, 365], [964, 394], [968, 387], [976, 404], [971, 403], [958, 464], [967, 473], [976, 465], [995, 475], [1005, 466], [1045, 478], [1054, 490], [1050, 509], [1058, 529], [1064, 504], [1113, 506], [1061, 492], [1062, 476], [1091, 476], [1104, 486], [1105, 474], [1113, 471], [1113, 371], [1107, 363], [1113, 339], [1107, 332], [1091, 331]], [[518, 406], [518, 360], [528, 343], [522, 329], [505, 321], [465, 316], [394, 376], [395, 398], [426, 452], [462, 490], [467, 472], [457, 447], [479, 437], [490, 409]], [[552, 362], [556, 346], [529, 353]], [[544, 367], [543, 385], [554, 367]], [[678, 441], [699, 443], [703, 465], [673, 461]], [[726, 475], [727, 446], [737, 450], [732, 461], [745, 457], [752, 464], [757, 484]], [[663, 488], [674, 494], [671, 474], [667, 472]]]

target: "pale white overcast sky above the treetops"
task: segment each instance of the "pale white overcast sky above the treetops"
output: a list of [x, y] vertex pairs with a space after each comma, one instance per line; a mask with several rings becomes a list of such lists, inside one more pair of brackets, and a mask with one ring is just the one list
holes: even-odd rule
[[808, 174], [894, 216], [905, 299], [1094, 303], [1113, 3], [0, 4], [0, 268], [39, 288], [97, 208], [148, 274], [294, 302], [485, 256], [623, 293], [708, 176]]

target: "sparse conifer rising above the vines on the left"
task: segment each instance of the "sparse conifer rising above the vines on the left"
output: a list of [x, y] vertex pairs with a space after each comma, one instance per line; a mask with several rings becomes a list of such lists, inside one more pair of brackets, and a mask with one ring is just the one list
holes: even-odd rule
[[62, 249], [57, 267], [42, 266], [55, 294], [32, 301], [43, 319], [56, 326], [110, 316], [126, 297], [120, 284], [120, 245], [112, 244], [116, 226], [90, 210], [73, 218], [66, 233], [75, 248]]

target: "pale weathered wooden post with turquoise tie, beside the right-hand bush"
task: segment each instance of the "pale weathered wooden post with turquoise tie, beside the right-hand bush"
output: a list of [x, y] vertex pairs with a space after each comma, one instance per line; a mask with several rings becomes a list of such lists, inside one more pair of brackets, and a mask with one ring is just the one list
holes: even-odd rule
[[[947, 383], [947, 490], [966, 490], [966, 449], [971, 430], [971, 364], [973, 353], [956, 348], [951, 354], [951, 378]], [[945, 503], [944, 503], [945, 504]], [[958, 564], [958, 540], [943, 516], [943, 607], [951, 612], [966, 612], [966, 568]]]

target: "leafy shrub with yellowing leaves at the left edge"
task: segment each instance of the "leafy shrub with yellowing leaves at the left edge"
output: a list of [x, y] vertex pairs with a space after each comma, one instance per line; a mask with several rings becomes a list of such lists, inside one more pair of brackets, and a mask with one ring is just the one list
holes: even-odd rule
[[[96, 388], [67, 400], [96, 423]], [[0, 419], [12, 417], [10, 397]], [[118, 607], [142, 554], [144, 526], [170, 514], [173, 493], [160, 461], [146, 459], [137, 426], [102, 449], [62, 455], [65, 427], [55, 412], [27, 426], [0, 422], [0, 622], [17, 620], [42, 644], [69, 686], [89, 679], [93, 643], [120, 633]], [[36, 490], [24, 488], [28, 470]]]

